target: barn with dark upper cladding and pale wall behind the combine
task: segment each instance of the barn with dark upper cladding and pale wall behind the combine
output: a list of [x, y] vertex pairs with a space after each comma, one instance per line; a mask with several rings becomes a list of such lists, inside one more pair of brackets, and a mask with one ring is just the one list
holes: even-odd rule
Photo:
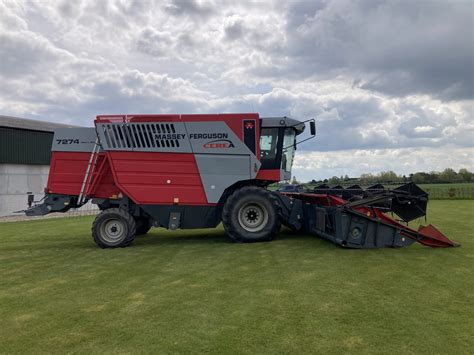
[[27, 195], [43, 195], [56, 128], [72, 125], [0, 115], [0, 216], [27, 207]]

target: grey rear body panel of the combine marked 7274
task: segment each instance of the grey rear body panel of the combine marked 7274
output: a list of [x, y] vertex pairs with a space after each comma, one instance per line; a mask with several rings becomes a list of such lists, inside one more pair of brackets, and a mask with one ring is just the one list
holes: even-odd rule
[[57, 128], [51, 150], [53, 152], [92, 152], [97, 134], [94, 127]]

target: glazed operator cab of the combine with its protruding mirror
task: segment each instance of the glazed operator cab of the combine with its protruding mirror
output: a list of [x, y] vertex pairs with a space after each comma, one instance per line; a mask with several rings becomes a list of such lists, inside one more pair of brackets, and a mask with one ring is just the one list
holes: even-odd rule
[[[296, 150], [296, 136], [304, 132], [305, 124], [288, 117], [266, 117], [261, 120], [260, 169], [279, 169], [281, 180], [289, 180]], [[311, 131], [313, 133], [313, 126]]]

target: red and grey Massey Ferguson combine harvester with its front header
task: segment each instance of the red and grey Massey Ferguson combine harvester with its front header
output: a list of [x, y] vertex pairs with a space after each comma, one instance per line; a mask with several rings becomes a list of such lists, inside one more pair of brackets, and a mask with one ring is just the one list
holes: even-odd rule
[[101, 210], [92, 225], [101, 248], [128, 246], [151, 227], [221, 222], [236, 242], [270, 241], [283, 224], [348, 248], [456, 245], [431, 225], [403, 223], [426, 214], [428, 195], [411, 183], [268, 190], [290, 179], [306, 125], [314, 137], [314, 120], [254, 113], [97, 116], [94, 128], [56, 130], [45, 196], [25, 213], [91, 201]]

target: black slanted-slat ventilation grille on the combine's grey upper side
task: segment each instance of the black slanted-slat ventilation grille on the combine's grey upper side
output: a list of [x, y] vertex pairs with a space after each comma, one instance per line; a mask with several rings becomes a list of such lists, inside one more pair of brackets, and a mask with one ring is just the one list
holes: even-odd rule
[[109, 149], [179, 148], [173, 123], [104, 123], [98, 129]]

